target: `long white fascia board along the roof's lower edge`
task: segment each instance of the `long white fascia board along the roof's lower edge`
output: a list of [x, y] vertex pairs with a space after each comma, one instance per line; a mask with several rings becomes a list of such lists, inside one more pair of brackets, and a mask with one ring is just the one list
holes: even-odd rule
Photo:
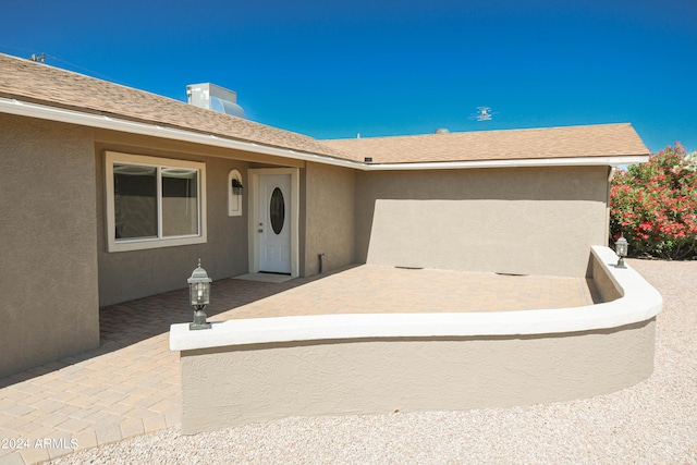
[[[578, 167], [578, 166], [604, 166], [617, 167], [646, 162], [649, 156], [624, 157], [576, 157], [576, 158], [530, 158], [521, 160], [475, 160], [475, 161], [439, 161], [423, 163], [364, 163], [358, 161], [342, 160], [329, 156], [296, 151], [288, 148], [279, 148], [259, 145], [250, 142], [235, 140], [220, 137], [213, 134], [201, 134], [193, 131], [160, 126], [157, 124], [140, 123], [122, 120], [103, 114], [85, 113], [63, 108], [49, 107], [16, 99], [0, 97], [0, 112], [17, 114], [22, 117], [37, 118], [41, 120], [59, 121], [89, 127], [99, 127], [126, 132], [132, 134], [162, 137], [173, 140], [189, 142], [195, 144], [244, 150], [254, 154], [272, 155], [281, 158], [313, 161], [337, 167], [352, 168], [362, 171], [411, 171], [411, 170], [462, 170], [475, 168], [523, 168], [523, 167]], [[321, 143], [321, 140], [320, 140]]]

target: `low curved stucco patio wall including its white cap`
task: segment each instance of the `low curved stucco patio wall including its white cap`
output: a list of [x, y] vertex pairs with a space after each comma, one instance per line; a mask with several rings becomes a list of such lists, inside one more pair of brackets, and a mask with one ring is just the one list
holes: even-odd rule
[[[458, 411], [584, 399], [648, 378], [660, 294], [607, 247], [619, 298], [508, 313], [370, 314], [173, 325], [182, 432], [289, 416]], [[604, 274], [602, 277], [601, 274]]]

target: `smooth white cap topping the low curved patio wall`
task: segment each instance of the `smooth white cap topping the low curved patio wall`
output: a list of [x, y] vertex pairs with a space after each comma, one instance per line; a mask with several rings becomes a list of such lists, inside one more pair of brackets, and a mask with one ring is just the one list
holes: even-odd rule
[[487, 336], [554, 334], [617, 328], [648, 320], [663, 306], [661, 295], [632, 267], [615, 268], [617, 256], [604, 246], [591, 253], [606, 267], [623, 296], [584, 307], [432, 314], [344, 314], [252, 318], [213, 322], [209, 330], [191, 331], [172, 325], [170, 350], [265, 344], [276, 342], [364, 338]]

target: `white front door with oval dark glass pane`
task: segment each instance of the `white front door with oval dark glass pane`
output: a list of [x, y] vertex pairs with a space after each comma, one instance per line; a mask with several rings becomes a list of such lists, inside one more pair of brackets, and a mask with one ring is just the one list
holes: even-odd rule
[[291, 175], [259, 176], [259, 271], [291, 273]]

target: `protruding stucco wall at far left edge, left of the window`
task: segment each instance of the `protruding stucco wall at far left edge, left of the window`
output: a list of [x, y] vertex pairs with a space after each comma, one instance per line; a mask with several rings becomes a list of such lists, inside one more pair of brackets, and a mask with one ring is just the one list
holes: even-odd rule
[[0, 114], [0, 376], [99, 345], [91, 131]]

